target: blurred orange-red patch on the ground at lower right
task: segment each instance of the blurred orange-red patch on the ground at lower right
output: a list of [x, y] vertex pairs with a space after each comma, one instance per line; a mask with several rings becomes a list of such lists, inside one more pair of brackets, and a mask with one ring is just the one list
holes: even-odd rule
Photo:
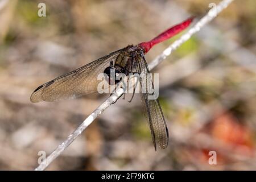
[[207, 143], [207, 147], [193, 150], [193, 155], [199, 156], [201, 163], [208, 164], [210, 151], [216, 151], [217, 164], [221, 165], [232, 162], [234, 155], [245, 158], [254, 156], [252, 131], [243, 126], [232, 113], [221, 114], [200, 132], [207, 133], [212, 138], [212, 143]]

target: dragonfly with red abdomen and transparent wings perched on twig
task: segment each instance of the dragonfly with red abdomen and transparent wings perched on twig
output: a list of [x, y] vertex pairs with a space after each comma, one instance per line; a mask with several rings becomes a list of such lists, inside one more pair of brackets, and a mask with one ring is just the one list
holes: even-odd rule
[[[137, 46], [127, 46], [109, 53], [106, 56], [101, 57], [89, 64], [86, 64], [74, 71], [65, 75], [59, 76], [51, 81], [40, 85], [31, 94], [31, 102], [40, 101], [59, 101], [77, 98], [85, 94], [97, 92], [97, 85], [99, 80], [97, 75], [104, 73], [106, 81], [109, 85], [117, 85], [120, 80], [115, 80], [111, 70], [114, 71], [114, 76], [119, 73], [129, 75], [129, 73], [139, 73], [146, 75], [150, 73], [148, 65], [145, 59], [145, 54], [155, 45], [164, 40], [170, 39], [172, 36], [179, 34], [185, 28], [191, 24], [193, 18], [188, 18], [183, 22], [176, 24], [168, 28], [162, 34], [156, 36], [154, 39], [137, 44]], [[150, 77], [140, 77], [139, 83], [141, 88], [145, 88], [146, 85], [150, 85], [150, 88], [154, 90], [154, 84]], [[165, 150], [168, 146], [169, 133], [164, 119], [162, 108], [159, 104], [159, 100], [148, 99], [150, 93], [140, 93], [143, 113], [146, 117], [148, 126], [150, 127], [152, 143], [156, 150], [156, 143], [158, 146]]]

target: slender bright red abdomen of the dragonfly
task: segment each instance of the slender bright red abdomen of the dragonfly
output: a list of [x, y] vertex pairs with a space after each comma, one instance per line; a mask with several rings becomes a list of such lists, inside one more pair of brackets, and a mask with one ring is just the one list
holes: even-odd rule
[[185, 28], [191, 24], [193, 20], [189, 18], [180, 24], [176, 24], [174, 27], [169, 28], [168, 30], [164, 31], [162, 34], [156, 36], [156, 38], [148, 41], [140, 43], [138, 46], [141, 46], [144, 49], [144, 53], [147, 53], [155, 44], [163, 42], [164, 40], [170, 39], [172, 36], [179, 34], [179, 32], [183, 31]]

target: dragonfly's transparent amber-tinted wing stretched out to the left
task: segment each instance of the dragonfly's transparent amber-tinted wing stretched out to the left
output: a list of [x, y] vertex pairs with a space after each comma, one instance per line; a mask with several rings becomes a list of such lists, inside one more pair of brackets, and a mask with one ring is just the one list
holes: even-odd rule
[[31, 94], [30, 101], [58, 101], [97, 92], [97, 85], [101, 81], [97, 80], [98, 74], [103, 73], [104, 69], [109, 67], [110, 61], [114, 61], [122, 50], [112, 52], [39, 86]]

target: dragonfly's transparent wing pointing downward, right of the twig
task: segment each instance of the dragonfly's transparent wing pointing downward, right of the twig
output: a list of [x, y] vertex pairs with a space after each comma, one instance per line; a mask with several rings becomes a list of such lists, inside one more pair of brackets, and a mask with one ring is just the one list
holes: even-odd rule
[[136, 56], [134, 60], [135, 70], [141, 74], [141, 90], [146, 90], [146, 93], [141, 93], [141, 100], [144, 115], [147, 119], [148, 125], [150, 126], [152, 142], [154, 144], [155, 150], [156, 142], [159, 144], [159, 147], [164, 150], [166, 149], [169, 140], [168, 129], [158, 99], [148, 99], [148, 96], [150, 93], [152, 93], [152, 90], [154, 90], [154, 85], [150, 75], [147, 75], [147, 73], [150, 73], [147, 67], [147, 63], [143, 54]]

